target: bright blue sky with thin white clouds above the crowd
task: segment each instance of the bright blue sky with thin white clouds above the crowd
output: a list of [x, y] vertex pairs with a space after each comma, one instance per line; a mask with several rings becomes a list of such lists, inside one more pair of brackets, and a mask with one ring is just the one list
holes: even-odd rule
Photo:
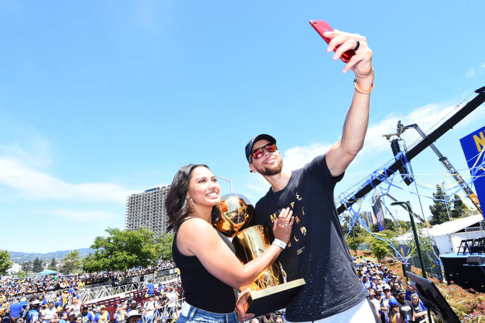
[[[381, 135], [397, 120], [426, 131], [485, 85], [484, 9], [482, 1], [0, 1], [0, 248], [88, 247], [105, 228], [124, 227], [126, 196], [170, 183], [190, 163], [232, 178], [255, 203], [268, 184], [249, 173], [243, 149], [259, 133], [276, 137], [292, 168], [324, 153], [342, 133], [354, 77], [310, 19], [365, 35], [374, 52], [366, 143], [338, 195], [392, 158]], [[482, 127], [484, 114], [479, 107], [436, 142], [457, 169], [466, 169], [459, 138]], [[431, 188], [446, 180], [430, 150], [413, 169]], [[419, 208], [412, 194], [391, 193]]]

